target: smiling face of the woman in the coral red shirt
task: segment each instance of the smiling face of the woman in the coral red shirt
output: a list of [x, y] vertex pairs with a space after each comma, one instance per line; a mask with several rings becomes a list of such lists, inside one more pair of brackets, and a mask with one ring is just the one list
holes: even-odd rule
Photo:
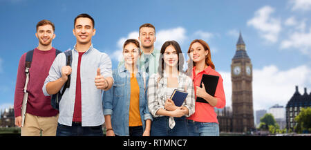
[[192, 46], [190, 48], [190, 57], [195, 63], [198, 63], [201, 61], [205, 62], [205, 59], [206, 59], [208, 53], [209, 52], [204, 49], [202, 44], [200, 44], [198, 42], [192, 44]]

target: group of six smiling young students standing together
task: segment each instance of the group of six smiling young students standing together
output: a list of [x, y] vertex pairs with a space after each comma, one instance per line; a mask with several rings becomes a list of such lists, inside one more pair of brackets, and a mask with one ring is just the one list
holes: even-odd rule
[[[77, 43], [71, 50], [72, 64], [65, 53], [55, 55], [52, 46], [55, 26], [39, 21], [27, 86], [25, 122], [21, 105], [26, 82], [26, 53], [19, 60], [15, 88], [15, 124], [21, 135], [107, 136], [217, 136], [219, 126], [214, 107], [225, 106], [223, 79], [215, 71], [209, 45], [202, 39], [191, 42], [188, 68], [177, 41], [154, 48], [156, 28], [143, 24], [137, 39], [124, 42], [123, 59], [112, 71], [111, 59], [93, 48], [94, 19], [87, 14], [74, 21]], [[217, 75], [214, 96], [200, 85], [202, 75]], [[70, 77], [68, 77], [70, 75]], [[70, 86], [64, 84], [70, 79]], [[201, 88], [202, 87], [202, 88]], [[50, 95], [64, 88], [59, 111], [50, 105]], [[170, 99], [175, 89], [188, 93], [182, 106]], [[208, 103], [196, 102], [202, 97]]]

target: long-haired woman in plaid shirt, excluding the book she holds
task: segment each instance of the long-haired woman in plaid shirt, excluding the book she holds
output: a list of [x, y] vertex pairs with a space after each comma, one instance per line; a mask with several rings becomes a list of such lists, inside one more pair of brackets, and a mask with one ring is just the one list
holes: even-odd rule
[[[158, 73], [151, 75], [148, 85], [151, 136], [185, 136], [186, 117], [194, 113], [194, 84], [182, 71], [184, 57], [176, 41], [166, 41], [160, 53]], [[180, 107], [169, 99], [174, 89], [188, 93]]]

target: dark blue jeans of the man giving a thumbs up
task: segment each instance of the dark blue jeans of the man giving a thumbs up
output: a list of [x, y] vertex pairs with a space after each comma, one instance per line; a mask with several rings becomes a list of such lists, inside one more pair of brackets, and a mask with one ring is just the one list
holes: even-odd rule
[[103, 136], [102, 126], [81, 126], [74, 123], [72, 126], [57, 124], [56, 136]]

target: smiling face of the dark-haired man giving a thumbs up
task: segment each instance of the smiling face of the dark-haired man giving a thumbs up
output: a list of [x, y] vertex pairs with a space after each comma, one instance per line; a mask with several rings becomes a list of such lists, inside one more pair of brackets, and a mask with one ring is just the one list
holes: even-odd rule
[[77, 18], [73, 35], [79, 44], [91, 44], [92, 37], [95, 35], [92, 20], [86, 17]]

